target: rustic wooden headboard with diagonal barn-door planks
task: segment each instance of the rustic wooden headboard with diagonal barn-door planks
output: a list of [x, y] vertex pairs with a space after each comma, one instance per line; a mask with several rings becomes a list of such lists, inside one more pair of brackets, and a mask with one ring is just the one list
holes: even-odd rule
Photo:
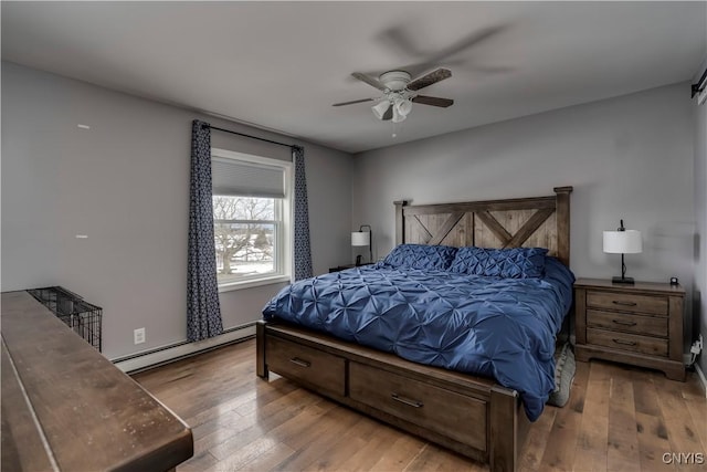
[[395, 201], [395, 243], [482, 248], [547, 248], [570, 264], [570, 193], [409, 206]]

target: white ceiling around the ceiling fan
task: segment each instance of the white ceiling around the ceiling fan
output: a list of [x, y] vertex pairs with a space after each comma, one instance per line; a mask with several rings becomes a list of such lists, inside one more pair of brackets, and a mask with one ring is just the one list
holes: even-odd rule
[[[688, 81], [706, 7], [3, 1], [2, 59], [358, 153]], [[372, 103], [331, 106], [378, 95], [351, 72], [436, 66], [421, 92], [454, 105], [415, 104], [395, 139]]]

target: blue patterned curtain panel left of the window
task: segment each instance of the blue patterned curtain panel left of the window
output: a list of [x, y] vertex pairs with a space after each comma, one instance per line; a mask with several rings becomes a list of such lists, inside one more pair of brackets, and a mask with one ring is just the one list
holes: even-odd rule
[[191, 127], [189, 261], [187, 268], [187, 339], [223, 333], [211, 202], [211, 128], [194, 119]]

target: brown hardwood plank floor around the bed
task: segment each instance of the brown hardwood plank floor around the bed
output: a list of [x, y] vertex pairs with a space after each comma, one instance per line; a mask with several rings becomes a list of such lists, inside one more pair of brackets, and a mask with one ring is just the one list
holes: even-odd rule
[[[178, 472], [488, 470], [286, 379], [261, 380], [255, 340], [134, 378], [192, 428], [194, 457]], [[665, 453], [675, 460], [664, 463]], [[521, 454], [521, 470], [544, 472], [698, 471], [705, 464], [707, 400], [694, 373], [679, 382], [597, 360], [578, 363], [570, 401], [546, 408]]]

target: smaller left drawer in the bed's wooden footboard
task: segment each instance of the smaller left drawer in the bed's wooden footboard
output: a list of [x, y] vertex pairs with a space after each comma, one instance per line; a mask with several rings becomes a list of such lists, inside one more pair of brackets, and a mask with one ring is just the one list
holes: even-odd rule
[[333, 394], [346, 394], [346, 360], [342, 357], [267, 336], [267, 368], [300, 384]]

